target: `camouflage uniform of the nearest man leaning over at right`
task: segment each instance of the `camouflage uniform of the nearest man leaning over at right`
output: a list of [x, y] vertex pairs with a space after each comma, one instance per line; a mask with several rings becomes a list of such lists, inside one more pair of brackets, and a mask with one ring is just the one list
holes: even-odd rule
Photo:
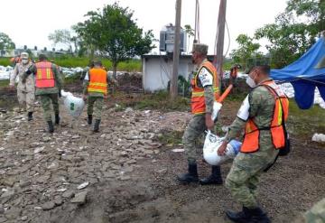
[[[266, 79], [270, 80], [270, 79]], [[255, 117], [257, 127], [270, 126], [274, 116], [274, 96], [265, 87], [257, 87], [248, 96], [249, 116]], [[236, 118], [230, 125], [227, 141], [239, 135], [246, 122]], [[259, 137], [259, 150], [255, 153], [238, 153], [226, 179], [226, 187], [232, 196], [244, 207], [255, 209], [257, 184], [261, 173], [269, 164], [274, 162], [278, 153], [275, 150], [269, 130], [261, 130]]]

